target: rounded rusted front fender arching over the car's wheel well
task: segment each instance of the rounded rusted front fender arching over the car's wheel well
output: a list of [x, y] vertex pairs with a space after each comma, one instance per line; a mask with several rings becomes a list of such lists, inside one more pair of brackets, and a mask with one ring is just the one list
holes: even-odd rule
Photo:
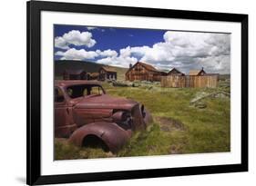
[[118, 152], [130, 139], [131, 130], [126, 131], [115, 122], [92, 122], [73, 132], [69, 138], [69, 142], [77, 146], [82, 146], [83, 140], [90, 134], [96, 135], [105, 142], [111, 152]]

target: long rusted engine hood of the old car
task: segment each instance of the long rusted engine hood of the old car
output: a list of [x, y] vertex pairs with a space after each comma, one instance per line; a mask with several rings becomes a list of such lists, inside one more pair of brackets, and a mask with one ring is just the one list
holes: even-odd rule
[[89, 95], [72, 100], [77, 109], [123, 109], [131, 110], [138, 103], [126, 98], [117, 98], [108, 94]]

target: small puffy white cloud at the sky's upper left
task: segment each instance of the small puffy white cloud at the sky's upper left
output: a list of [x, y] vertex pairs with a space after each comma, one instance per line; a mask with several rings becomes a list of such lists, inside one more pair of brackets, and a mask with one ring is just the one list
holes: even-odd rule
[[97, 42], [92, 39], [92, 34], [89, 32], [80, 32], [77, 30], [69, 31], [62, 36], [57, 36], [55, 38], [55, 46], [61, 49], [68, 49], [70, 44], [77, 46], [86, 45], [87, 47], [92, 47]]

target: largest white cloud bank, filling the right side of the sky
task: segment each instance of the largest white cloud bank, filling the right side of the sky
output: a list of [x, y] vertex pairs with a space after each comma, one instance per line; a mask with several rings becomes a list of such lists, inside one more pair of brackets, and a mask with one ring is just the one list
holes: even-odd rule
[[151, 47], [128, 46], [120, 50], [119, 56], [134, 56], [158, 69], [176, 67], [184, 73], [202, 66], [210, 73], [230, 73], [229, 34], [168, 31], [163, 39]]

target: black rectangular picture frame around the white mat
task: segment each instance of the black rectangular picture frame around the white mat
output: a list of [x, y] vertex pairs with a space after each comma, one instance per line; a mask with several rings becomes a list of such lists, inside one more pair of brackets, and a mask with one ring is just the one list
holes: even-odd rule
[[[27, 149], [26, 183], [29, 185], [140, 179], [180, 175], [248, 171], [248, 15], [224, 14], [168, 9], [124, 7], [113, 5], [85, 5], [56, 2], [27, 2]], [[241, 163], [214, 166], [167, 168], [139, 171], [110, 171], [65, 175], [41, 175], [40, 152], [40, 18], [42, 11], [91, 13], [101, 15], [136, 15], [148, 17], [182, 18], [241, 23]]]

